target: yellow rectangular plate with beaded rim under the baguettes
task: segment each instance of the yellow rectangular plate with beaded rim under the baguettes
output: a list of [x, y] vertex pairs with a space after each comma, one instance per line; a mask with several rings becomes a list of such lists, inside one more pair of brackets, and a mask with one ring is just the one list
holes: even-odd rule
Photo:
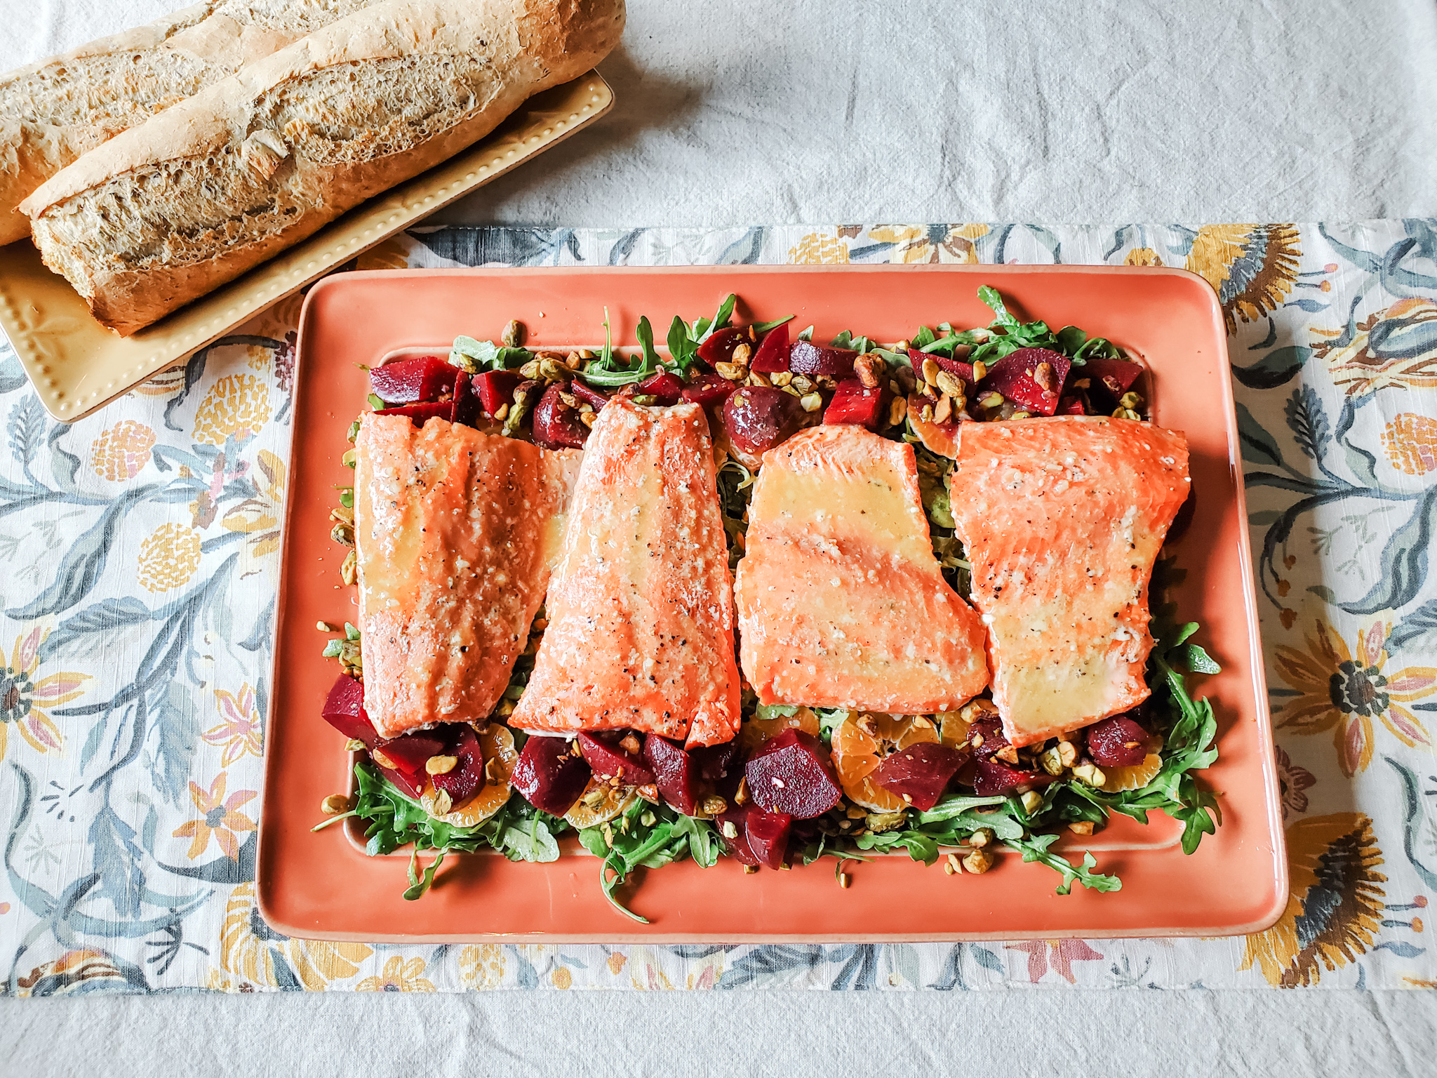
[[289, 250], [134, 336], [93, 318], [29, 240], [0, 247], [0, 329], [45, 410], [73, 423], [213, 344], [389, 236], [588, 126], [614, 106], [596, 70], [536, 93], [490, 135], [355, 207]]

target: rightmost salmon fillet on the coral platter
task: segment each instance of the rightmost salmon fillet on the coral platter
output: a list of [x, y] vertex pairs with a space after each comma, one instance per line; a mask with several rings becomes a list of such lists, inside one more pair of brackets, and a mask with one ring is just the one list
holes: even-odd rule
[[953, 517], [1013, 745], [1147, 699], [1148, 579], [1188, 482], [1187, 438], [1151, 423], [960, 427]]

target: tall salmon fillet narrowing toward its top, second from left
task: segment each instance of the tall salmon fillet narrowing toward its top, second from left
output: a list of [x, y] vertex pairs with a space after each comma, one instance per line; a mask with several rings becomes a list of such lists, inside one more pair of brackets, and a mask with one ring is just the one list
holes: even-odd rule
[[688, 746], [739, 732], [733, 581], [703, 408], [604, 407], [545, 609], [510, 726], [632, 727]]

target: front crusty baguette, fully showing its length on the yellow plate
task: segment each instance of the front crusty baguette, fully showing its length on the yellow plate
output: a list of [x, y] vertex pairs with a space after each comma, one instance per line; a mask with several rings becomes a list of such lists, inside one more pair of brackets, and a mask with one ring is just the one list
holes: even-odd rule
[[622, 29], [624, 0], [385, 0], [92, 149], [22, 210], [128, 336], [479, 141]]

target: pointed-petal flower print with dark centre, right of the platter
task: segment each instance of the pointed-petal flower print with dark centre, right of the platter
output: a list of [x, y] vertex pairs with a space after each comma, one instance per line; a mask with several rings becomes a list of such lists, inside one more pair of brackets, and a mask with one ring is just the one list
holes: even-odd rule
[[1346, 776], [1372, 762], [1372, 720], [1378, 719], [1403, 745], [1431, 749], [1421, 720], [1405, 703], [1437, 693], [1437, 668], [1388, 668], [1390, 625], [1377, 621], [1358, 635], [1357, 647], [1318, 618], [1305, 637], [1306, 651], [1279, 645], [1277, 673], [1299, 691], [1279, 713], [1277, 726], [1302, 734], [1332, 730], [1338, 763]]

